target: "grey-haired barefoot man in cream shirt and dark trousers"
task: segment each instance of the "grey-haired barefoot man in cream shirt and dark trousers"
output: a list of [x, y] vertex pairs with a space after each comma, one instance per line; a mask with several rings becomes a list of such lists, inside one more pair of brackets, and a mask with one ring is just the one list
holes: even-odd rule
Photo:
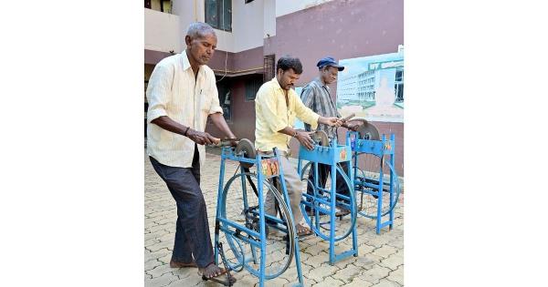
[[207, 118], [228, 138], [236, 137], [223, 118], [213, 70], [205, 65], [215, 52], [215, 30], [192, 23], [184, 41], [186, 49], [160, 61], [149, 80], [147, 153], [177, 205], [170, 267], [197, 267], [203, 278], [213, 279], [227, 271], [215, 264], [200, 188], [204, 145], [219, 142], [205, 132]]

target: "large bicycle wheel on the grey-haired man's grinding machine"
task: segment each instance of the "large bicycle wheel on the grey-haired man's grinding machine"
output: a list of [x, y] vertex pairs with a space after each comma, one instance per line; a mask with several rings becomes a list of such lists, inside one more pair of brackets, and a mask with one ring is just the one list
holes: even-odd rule
[[[295, 253], [295, 227], [279, 190], [268, 180], [263, 180], [263, 194], [266, 198], [269, 192], [272, 193], [280, 216], [269, 216], [265, 212], [265, 222], [268, 223], [265, 227], [268, 231], [265, 257], [261, 258], [258, 197], [253, 193], [248, 180], [252, 180], [258, 189], [255, 174], [239, 173], [228, 179], [218, 207], [220, 230], [223, 231], [220, 233], [224, 233], [219, 238], [230, 249], [227, 261], [231, 267], [235, 267], [235, 270], [243, 267], [259, 276], [260, 261], [265, 261], [265, 278], [268, 280], [278, 277], [290, 267]], [[227, 224], [223, 220], [229, 220], [233, 224]]]

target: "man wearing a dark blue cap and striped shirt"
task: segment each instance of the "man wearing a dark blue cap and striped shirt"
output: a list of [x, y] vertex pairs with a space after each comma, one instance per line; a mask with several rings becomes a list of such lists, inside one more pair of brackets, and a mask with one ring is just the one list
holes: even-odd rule
[[[300, 98], [302, 100], [302, 103], [304, 106], [311, 108], [315, 113], [323, 116], [323, 117], [338, 117], [341, 118], [341, 114], [337, 111], [337, 107], [335, 106], [335, 103], [333, 102], [331, 93], [330, 93], [330, 87], [328, 85], [334, 83], [337, 80], [337, 75], [339, 71], [342, 71], [344, 67], [337, 64], [337, 62], [331, 57], [326, 56], [324, 58], [321, 58], [320, 61], [318, 61], [318, 64], [316, 64], [319, 71], [319, 77], [314, 78], [308, 85], [302, 88], [302, 91], [300, 92]], [[358, 127], [356, 124], [350, 123], [350, 122], [344, 122], [342, 123], [342, 127], [356, 130]], [[304, 125], [304, 128], [307, 131], [311, 130], [311, 126], [306, 124]], [[330, 127], [327, 125], [318, 125], [317, 130], [323, 130], [327, 134], [329, 138], [337, 138], [337, 128], [336, 127]], [[346, 164], [342, 164], [342, 169], [345, 173], [348, 172], [348, 167]], [[321, 185], [321, 187], [325, 187], [325, 182], [327, 181], [327, 176], [329, 175], [331, 171], [330, 166], [324, 165], [324, 164], [318, 164], [318, 175], [319, 179], [318, 182]], [[310, 169], [309, 173], [309, 179], [311, 182], [314, 182], [314, 169]], [[342, 176], [337, 174], [337, 193], [342, 195], [348, 195], [349, 190], [346, 184], [344, 184], [344, 180], [342, 179]], [[312, 190], [311, 186], [308, 186], [307, 193], [310, 195], [314, 194], [314, 191]], [[306, 207], [307, 212], [311, 211], [311, 208]], [[343, 211], [341, 214], [346, 214], [348, 211]]]

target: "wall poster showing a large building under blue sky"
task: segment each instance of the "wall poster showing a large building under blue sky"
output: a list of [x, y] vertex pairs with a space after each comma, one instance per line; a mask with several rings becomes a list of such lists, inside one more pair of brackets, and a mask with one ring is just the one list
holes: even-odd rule
[[404, 122], [404, 53], [342, 59], [337, 109], [342, 117]]

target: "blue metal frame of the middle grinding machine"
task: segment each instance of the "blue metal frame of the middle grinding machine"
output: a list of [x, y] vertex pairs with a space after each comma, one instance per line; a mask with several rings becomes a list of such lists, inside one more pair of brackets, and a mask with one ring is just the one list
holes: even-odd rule
[[[346, 141], [349, 143], [350, 141]], [[358, 256], [358, 241], [357, 241], [357, 231], [356, 231], [356, 207], [355, 207], [355, 200], [337, 194], [336, 186], [337, 186], [337, 177], [335, 176], [337, 174], [337, 170], [344, 175], [344, 172], [341, 168], [337, 167], [338, 163], [341, 162], [348, 162], [349, 164], [349, 175], [347, 180], [347, 185], [351, 189], [351, 197], [353, 197], [353, 165], [352, 165], [352, 149], [349, 144], [346, 145], [339, 145], [337, 143], [336, 138], [332, 138], [330, 141], [329, 147], [322, 147], [319, 145], [315, 145], [314, 149], [308, 150], [302, 146], [300, 146], [299, 150], [299, 163], [297, 166], [297, 169], [299, 170], [299, 176], [302, 179], [304, 169], [302, 169], [302, 160], [308, 160], [314, 165], [314, 196], [310, 196], [306, 194], [306, 191], [303, 192], [303, 196], [307, 200], [311, 200], [312, 203], [306, 202], [305, 200], [300, 201], [300, 210], [303, 214], [306, 214], [305, 206], [311, 207], [313, 205], [314, 209], [314, 218], [315, 218], [315, 226], [311, 226], [311, 230], [314, 231], [314, 233], [317, 236], [320, 236], [323, 240], [329, 240], [329, 263], [333, 265], [336, 261], [341, 261], [342, 259], [345, 259], [350, 256], [357, 257]], [[322, 189], [318, 182], [318, 164], [322, 163], [325, 165], [329, 165], [331, 167], [331, 189], [326, 190]], [[306, 166], [305, 166], [306, 168]], [[330, 194], [329, 201], [324, 200], [321, 198], [321, 196], [318, 194], [316, 190], [322, 190], [323, 192]], [[351, 225], [351, 228], [348, 232], [343, 234], [341, 237], [336, 238], [335, 237], [335, 211], [336, 211], [336, 199], [346, 199], [350, 200], [351, 204], [345, 205], [350, 210], [351, 218], [353, 220], [353, 223]], [[319, 203], [323, 203], [324, 205], [328, 205], [329, 209], [321, 208]], [[329, 221], [330, 221], [330, 234], [329, 237], [325, 234], [321, 233], [320, 231], [320, 210], [323, 214], [329, 214]], [[311, 224], [311, 220], [305, 216], [305, 219], [309, 224]], [[349, 251], [343, 251], [340, 254], [336, 254], [335, 252], [335, 241], [341, 241], [342, 239], [348, 237], [350, 234], [352, 234], [352, 243], [353, 247]]]

